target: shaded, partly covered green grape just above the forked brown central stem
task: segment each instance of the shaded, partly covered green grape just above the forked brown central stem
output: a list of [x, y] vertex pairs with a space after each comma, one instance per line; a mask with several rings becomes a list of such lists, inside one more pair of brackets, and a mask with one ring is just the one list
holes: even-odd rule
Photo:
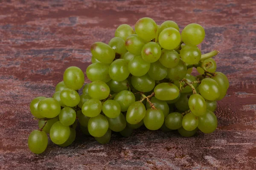
[[145, 74], [141, 77], [132, 76], [131, 77], [131, 85], [137, 90], [141, 92], [149, 92], [154, 89], [155, 81]]

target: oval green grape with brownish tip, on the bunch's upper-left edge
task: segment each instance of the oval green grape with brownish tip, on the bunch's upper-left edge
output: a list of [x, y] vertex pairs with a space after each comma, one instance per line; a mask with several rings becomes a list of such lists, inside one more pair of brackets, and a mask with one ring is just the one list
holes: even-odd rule
[[110, 64], [116, 57], [115, 51], [103, 42], [94, 42], [90, 48], [93, 57], [103, 63]]

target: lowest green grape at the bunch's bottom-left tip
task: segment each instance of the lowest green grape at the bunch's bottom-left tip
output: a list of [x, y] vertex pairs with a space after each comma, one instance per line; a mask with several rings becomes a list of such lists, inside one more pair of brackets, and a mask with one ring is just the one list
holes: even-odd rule
[[28, 146], [32, 153], [43, 153], [48, 145], [48, 137], [44, 131], [33, 130], [29, 134]]

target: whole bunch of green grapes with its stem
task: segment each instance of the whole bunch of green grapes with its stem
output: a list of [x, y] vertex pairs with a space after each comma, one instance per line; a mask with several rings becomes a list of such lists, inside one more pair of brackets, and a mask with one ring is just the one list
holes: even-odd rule
[[[78, 67], [65, 70], [52, 97], [37, 97], [30, 111], [39, 130], [29, 135], [33, 153], [42, 153], [48, 138], [61, 147], [76, 138], [76, 126], [96, 141], [106, 144], [111, 132], [129, 136], [143, 125], [149, 130], [178, 130], [193, 136], [199, 129], [212, 133], [217, 127], [213, 113], [217, 100], [227, 93], [227, 77], [216, 71], [212, 51], [201, 54], [197, 47], [204, 28], [192, 23], [179, 32], [174, 21], [160, 26], [151, 18], [137, 21], [135, 31], [123, 24], [108, 44], [90, 48], [92, 64], [86, 75]], [[196, 68], [199, 75], [191, 75]], [[82, 88], [79, 96], [78, 90]]]

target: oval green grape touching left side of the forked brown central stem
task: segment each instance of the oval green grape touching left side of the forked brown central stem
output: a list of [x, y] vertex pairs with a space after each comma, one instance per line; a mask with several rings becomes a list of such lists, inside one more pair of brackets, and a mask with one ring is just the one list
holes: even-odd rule
[[138, 124], [145, 116], [146, 109], [142, 102], [134, 102], [132, 103], [126, 113], [126, 121], [135, 125]]

